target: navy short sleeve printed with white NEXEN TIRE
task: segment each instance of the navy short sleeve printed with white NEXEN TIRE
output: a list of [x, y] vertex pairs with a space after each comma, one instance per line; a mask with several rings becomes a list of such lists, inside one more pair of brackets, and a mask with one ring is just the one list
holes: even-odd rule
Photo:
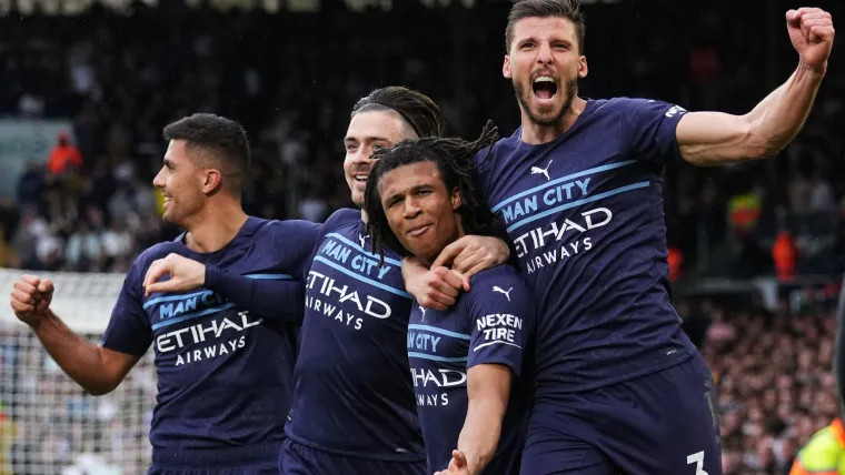
[[478, 364], [501, 364], [515, 375], [534, 326], [534, 297], [525, 280], [511, 267], [495, 267], [471, 283], [466, 315], [471, 324], [467, 370]]

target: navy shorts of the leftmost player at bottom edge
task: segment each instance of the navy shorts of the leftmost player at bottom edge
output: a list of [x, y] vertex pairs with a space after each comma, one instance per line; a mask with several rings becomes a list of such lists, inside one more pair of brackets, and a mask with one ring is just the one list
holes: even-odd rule
[[147, 475], [278, 475], [281, 442], [209, 451], [153, 449]]

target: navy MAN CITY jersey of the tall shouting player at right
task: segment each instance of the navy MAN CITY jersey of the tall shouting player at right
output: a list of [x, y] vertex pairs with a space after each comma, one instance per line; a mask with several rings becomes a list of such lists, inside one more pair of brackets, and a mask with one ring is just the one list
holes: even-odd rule
[[476, 158], [539, 301], [537, 397], [634, 378], [695, 351], [669, 301], [663, 211], [685, 113], [589, 100], [556, 140], [527, 144], [517, 130]]

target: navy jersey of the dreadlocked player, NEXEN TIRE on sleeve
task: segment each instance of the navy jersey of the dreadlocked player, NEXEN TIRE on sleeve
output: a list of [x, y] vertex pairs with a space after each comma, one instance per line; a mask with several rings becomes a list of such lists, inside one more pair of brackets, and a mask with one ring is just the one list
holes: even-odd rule
[[514, 375], [496, 454], [483, 473], [518, 472], [534, 384], [530, 368], [527, 377], [523, 372], [534, 313], [528, 283], [507, 265], [473, 276], [470, 291], [448, 311], [414, 305], [407, 346], [428, 473], [446, 469], [458, 448], [467, 416], [467, 372], [479, 364], [504, 365]]

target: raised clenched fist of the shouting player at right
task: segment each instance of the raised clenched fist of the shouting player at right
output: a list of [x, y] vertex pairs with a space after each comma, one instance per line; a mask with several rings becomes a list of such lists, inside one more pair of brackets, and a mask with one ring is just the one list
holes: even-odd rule
[[786, 12], [786, 31], [798, 52], [801, 64], [824, 73], [836, 34], [831, 13], [821, 8], [789, 10]]

